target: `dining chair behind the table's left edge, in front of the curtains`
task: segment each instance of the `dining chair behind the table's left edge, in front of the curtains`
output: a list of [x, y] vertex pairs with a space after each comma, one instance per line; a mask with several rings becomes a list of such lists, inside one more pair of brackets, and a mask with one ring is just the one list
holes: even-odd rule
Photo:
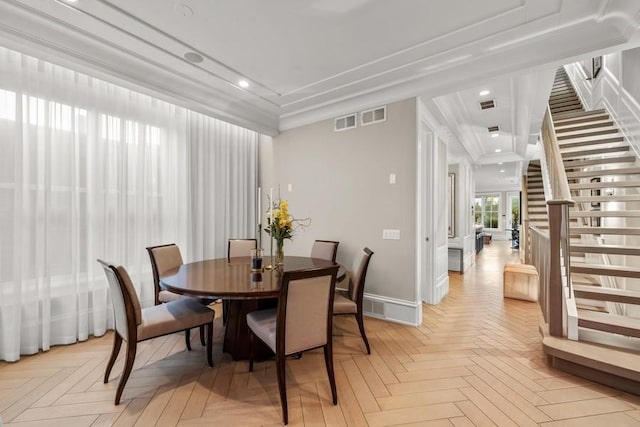
[[[176, 294], [171, 291], [162, 289], [160, 286], [160, 277], [171, 270], [181, 266], [182, 254], [180, 248], [175, 243], [169, 243], [167, 245], [150, 246], [147, 248], [149, 253], [149, 259], [151, 260], [151, 270], [153, 271], [153, 284], [155, 286], [155, 304], [162, 304], [171, 301], [177, 301], [183, 298], [193, 298], [185, 295]], [[212, 299], [196, 298], [198, 302], [203, 305], [209, 305], [213, 302]], [[185, 331], [184, 339], [186, 341], [187, 349], [191, 350], [191, 334], [189, 331]], [[204, 328], [200, 328], [200, 343], [205, 345]]]

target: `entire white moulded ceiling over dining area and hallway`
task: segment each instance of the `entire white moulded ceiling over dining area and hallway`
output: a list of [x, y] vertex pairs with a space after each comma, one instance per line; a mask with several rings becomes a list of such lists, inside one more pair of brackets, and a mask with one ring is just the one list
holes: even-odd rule
[[552, 70], [639, 28], [631, 0], [0, 0], [0, 44], [268, 135], [433, 100], [478, 165], [526, 159]]

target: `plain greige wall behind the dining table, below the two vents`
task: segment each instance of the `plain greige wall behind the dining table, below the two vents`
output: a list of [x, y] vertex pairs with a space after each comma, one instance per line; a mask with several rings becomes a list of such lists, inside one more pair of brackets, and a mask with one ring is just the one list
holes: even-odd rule
[[[291, 213], [312, 220], [285, 243], [285, 254], [307, 255], [315, 239], [337, 240], [338, 262], [350, 268], [368, 246], [374, 255], [365, 292], [415, 308], [416, 140], [412, 98], [388, 104], [385, 122], [358, 120], [355, 129], [335, 132], [325, 120], [262, 141], [263, 193], [279, 187]], [[400, 230], [400, 240], [383, 240], [383, 229]], [[268, 251], [268, 240], [263, 246]]]

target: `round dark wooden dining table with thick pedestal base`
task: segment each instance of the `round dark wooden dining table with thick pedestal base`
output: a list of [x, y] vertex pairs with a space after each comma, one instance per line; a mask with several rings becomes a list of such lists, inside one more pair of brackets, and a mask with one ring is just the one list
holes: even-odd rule
[[[267, 260], [265, 258], [264, 260]], [[332, 261], [286, 256], [284, 271], [299, 271], [335, 265]], [[338, 278], [344, 278], [340, 267]], [[275, 270], [254, 272], [250, 257], [217, 258], [183, 264], [160, 277], [160, 285], [178, 294], [229, 300], [223, 351], [233, 360], [249, 358], [247, 314], [277, 305], [282, 275]]]

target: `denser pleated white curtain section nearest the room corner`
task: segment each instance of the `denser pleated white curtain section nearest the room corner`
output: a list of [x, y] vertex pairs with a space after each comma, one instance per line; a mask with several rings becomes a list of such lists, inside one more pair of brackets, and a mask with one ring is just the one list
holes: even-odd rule
[[258, 134], [189, 112], [189, 150], [190, 256], [224, 257], [228, 239], [256, 236]]

